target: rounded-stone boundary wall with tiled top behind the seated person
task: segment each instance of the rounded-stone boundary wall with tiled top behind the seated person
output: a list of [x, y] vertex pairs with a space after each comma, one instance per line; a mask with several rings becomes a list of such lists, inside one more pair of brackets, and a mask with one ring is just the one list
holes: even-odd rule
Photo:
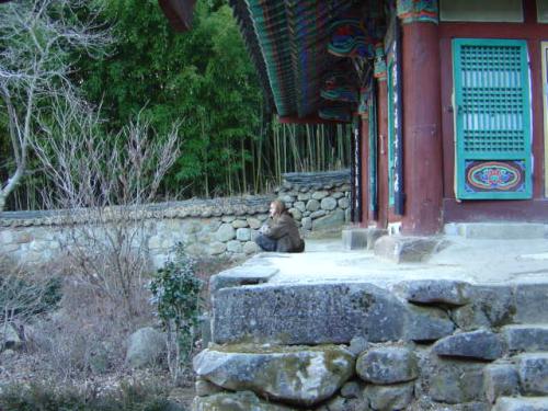
[[[276, 194], [292, 209], [304, 237], [312, 230], [340, 230], [350, 217], [349, 181], [347, 171], [292, 173], [272, 195], [153, 204], [135, 213], [156, 267], [178, 242], [194, 255], [238, 258], [258, 251], [253, 240]], [[2, 213], [0, 252], [23, 263], [47, 262], [62, 253], [65, 244], [70, 247], [75, 225], [88, 222], [85, 216], [59, 212]]]

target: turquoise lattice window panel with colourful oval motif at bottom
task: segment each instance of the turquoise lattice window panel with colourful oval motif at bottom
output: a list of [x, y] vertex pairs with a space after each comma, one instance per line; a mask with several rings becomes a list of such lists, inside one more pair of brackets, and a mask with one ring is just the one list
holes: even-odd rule
[[457, 198], [530, 198], [524, 41], [455, 39]]

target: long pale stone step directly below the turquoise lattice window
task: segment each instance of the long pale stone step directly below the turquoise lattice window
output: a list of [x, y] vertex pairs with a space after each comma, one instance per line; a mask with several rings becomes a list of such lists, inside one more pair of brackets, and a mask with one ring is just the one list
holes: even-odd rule
[[477, 240], [528, 240], [546, 238], [548, 225], [533, 222], [452, 222], [446, 235]]

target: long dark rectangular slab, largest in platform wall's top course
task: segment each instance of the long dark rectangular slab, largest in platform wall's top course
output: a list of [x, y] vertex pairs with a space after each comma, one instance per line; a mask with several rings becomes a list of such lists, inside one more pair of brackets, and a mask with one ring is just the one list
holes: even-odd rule
[[[414, 311], [388, 290], [368, 283], [256, 285], [219, 289], [213, 298], [213, 341], [327, 344], [432, 340], [450, 332], [448, 319]], [[422, 323], [423, 329], [416, 329]], [[432, 327], [430, 327], [432, 326]]]

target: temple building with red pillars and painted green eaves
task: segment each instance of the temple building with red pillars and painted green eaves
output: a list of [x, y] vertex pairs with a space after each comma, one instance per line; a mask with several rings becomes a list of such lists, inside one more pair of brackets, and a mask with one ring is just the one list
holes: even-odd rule
[[229, 3], [281, 122], [353, 124], [356, 224], [548, 221], [548, 0]]

